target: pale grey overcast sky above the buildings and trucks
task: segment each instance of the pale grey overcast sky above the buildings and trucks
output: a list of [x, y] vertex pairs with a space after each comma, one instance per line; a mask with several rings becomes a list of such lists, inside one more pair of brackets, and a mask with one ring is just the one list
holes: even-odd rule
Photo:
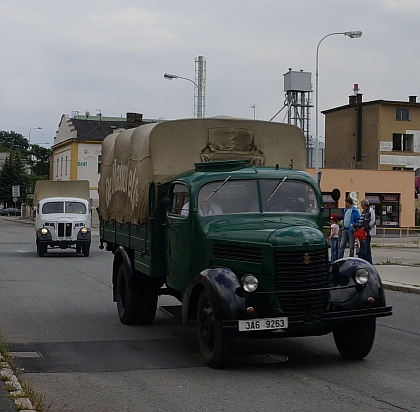
[[[420, 95], [419, 19], [419, 0], [0, 0], [0, 130], [42, 127], [31, 142], [53, 143], [74, 111], [193, 117], [194, 85], [163, 74], [194, 80], [197, 56], [206, 117], [252, 118], [255, 105], [269, 120], [283, 74], [311, 72], [315, 89], [318, 42], [352, 30], [363, 36], [320, 46], [320, 111], [347, 104], [354, 83], [364, 101], [408, 101]], [[315, 134], [315, 110], [311, 123]]]

